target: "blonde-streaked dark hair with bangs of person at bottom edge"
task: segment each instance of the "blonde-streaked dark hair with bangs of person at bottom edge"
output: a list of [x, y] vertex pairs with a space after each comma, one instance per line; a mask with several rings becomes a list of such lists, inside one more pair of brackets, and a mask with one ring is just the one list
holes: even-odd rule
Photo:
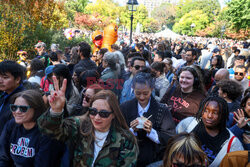
[[198, 160], [201, 165], [206, 165], [208, 158], [201, 149], [200, 142], [194, 134], [181, 133], [171, 138], [163, 157], [163, 167], [171, 167], [174, 158], [184, 157], [184, 163], [190, 164]]

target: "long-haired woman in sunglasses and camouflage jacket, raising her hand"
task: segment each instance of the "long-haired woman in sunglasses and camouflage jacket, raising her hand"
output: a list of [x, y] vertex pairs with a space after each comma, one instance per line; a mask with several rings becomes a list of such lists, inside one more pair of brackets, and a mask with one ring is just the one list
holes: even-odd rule
[[38, 124], [43, 133], [60, 141], [76, 143], [73, 166], [135, 166], [138, 148], [133, 134], [119, 109], [114, 93], [102, 90], [95, 94], [88, 115], [62, 118], [66, 79], [49, 96], [50, 111]]

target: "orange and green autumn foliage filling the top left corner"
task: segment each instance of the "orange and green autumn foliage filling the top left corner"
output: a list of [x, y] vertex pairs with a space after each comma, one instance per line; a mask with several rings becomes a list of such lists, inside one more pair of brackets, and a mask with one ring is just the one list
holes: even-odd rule
[[16, 59], [16, 52], [34, 50], [38, 40], [48, 42], [52, 29], [66, 27], [64, 3], [57, 0], [0, 1], [0, 54]]

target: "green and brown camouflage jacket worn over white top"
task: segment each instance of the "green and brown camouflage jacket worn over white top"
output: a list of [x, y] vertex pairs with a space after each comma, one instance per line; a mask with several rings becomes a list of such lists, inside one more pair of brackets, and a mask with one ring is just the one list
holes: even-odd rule
[[[70, 141], [75, 143], [74, 167], [91, 167], [94, 159], [94, 143], [89, 144], [88, 137], [81, 133], [84, 125], [91, 123], [85, 121], [80, 123], [78, 117], [63, 119], [61, 116], [51, 116], [49, 111], [38, 119], [40, 130], [60, 141]], [[111, 126], [109, 134], [104, 142], [103, 148], [99, 152], [94, 165], [95, 167], [124, 166], [133, 167], [136, 165], [138, 147], [132, 141], [132, 134], [128, 130], [118, 132]]]

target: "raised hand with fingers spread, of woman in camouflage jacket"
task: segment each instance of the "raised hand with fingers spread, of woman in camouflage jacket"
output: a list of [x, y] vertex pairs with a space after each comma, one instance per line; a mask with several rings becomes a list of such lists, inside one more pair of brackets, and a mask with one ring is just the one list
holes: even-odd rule
[[49, 104], [53, 112], [62, 112], [65, 105], [65, 91], [67, 87], [67, 79], [63, 80], [63, 84], [59, 89], [59, 83], [55, 76], [52, 77], [54, 83], [54, 91], [48, 96]]

